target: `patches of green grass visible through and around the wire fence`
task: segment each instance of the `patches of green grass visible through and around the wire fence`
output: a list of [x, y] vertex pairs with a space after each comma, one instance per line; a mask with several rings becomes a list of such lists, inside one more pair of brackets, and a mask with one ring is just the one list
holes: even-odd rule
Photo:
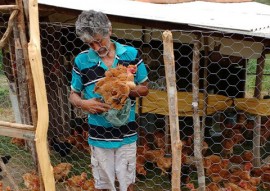
[[[256, 60], [250, 60], [247, 65], [248, 73], [255, 73], [256, 71]], [[268, 56], [266, 59], [265, 64], [265, 74], [270, 74], [270, 57]], [[246, 90], [247, 93], [252, 96], [254, 92], [255, 86], [255, 75], [248, 75], [247, 76], [247, 83], [246, 83]], [[263, 93], [266, 95], [270, 90], [270, 75], [265, 75], [263, 79]], [[11, 103], [9, 101], [9, 90], [8, 90], [8, 83], [3, 74], [0, 74], [0, 120], [4, 121], [12, 121], [13, 120], [13, 112], [11, 109]], [[218, 149], [217, 144], [213, 146], [213, 149]], [[235, 153], [239, 154], [242, 153], [243, 150], [250, 150], [252, 149], [252, 141], [247, 141], [242, 146], [237, 146]], [[215, 150], [214, 153], [219, 153], [219, 150]], [[270, 143], [267, 143], [262, 147], [261, 154], [262, 158], [265, 158], [270, 153]], [[9, 137], [0, 136], [0, 155], [11, 155], [12, 159], [8, 166], [11, 166], [11, 172], [15, 177], [17, 182], [21, 182], [21, 176], [23, 173], [26, 173], [30, 170], [35, 169], [35, 165], [33, 162], [33, 158], [29, 150], [25, 148], [18, 148], [17, 146], [10, 143]], [[63, 158], [60, 157], [58, 153], [54, 151], [50, 152], [51, 163], [52, 165], [56, 165], [60, 162], [69, 162], [73, 164], [73, 168], [71, 170], [70, 176], [81, 174], [81, 172], [87, 172], [89, 177], [91, 177], [90, 173], [90, 155], [82, 153], [76, 149], [72, 150], [72, 153], [67, 157]], [[165, 191], [171, 189], [171, 182], [168, 176], [161, 176], [161, 172], [155, 166], [147, 165], [148, 173], [147, 177], [138, 177], [136, 181], [135, 189], [136, 190], [144, 190], [144, 191]], [[192, 180], [195, 184], [197, 177], [196, 173], [193, 173]], [[64, 186], [63, 184], [57, 185], [59, 189]], [[185, 191], [185, 188], [182, 189]], [[266, 191], [262, 188], [259, 188], [259, 191]]]

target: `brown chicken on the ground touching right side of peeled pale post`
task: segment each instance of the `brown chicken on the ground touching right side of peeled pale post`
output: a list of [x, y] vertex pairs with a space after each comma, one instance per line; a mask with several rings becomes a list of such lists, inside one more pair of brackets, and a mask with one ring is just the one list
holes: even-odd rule
[[73, 165], [70, 163], [60, 163], [53, 167], [55, 181], [58, 182], [64, 180], [68, 176], [72, 166]]

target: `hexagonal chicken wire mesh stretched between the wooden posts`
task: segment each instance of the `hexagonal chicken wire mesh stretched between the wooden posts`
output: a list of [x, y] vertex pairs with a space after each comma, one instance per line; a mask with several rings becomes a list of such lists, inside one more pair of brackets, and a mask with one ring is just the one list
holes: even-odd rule
[[[8, 15], [2, 13], [1, 16], [2, 36]], [[54, 168], [56, 190], [92, 190], [87, 114], [68, 101], [74, 57], [89, 46], [78, 39], [72, 24], [40, 23], [40, 33], [49, 104], [50, 159], [54, 167], [62, 165]], [[154, 29], [113, 29], [114, 40], [140, 50], [149, 72], [150, 93], [137, 102], [139, 139], [135, 190], [171, 190], [172, 152], [162, 33], [162, 30]], [[254, 96], [254, 89], [258, 87], [255, 78], [260, 74], [256, 73], [256, 65], [263, 42], [252, 37], [232, 40], [233, 35], [216, 32], [174, 30], [179, 133], [183, 142], [182, 164], [179, 164], [182, 190], [195, 190], [200, 178], [194, 159], [194, 114], [191, 106], [193, 43], [197, 36], [202, 42], [197, 83], [199, 104], [202, 106], [199, 115], [207, 190], [270, 190], [268, 55], [260, 82], [261, 97], [265, 102], [258, 106], [248, 99]], [[28, 116], [27, 75], [23, 59], [18, 59], [20, 48], [15, 46], [15, 40], [11, 38], [9, 46], [1, 52], [0, 120], [32, 124]], [[209, 107], [207, 112], [203, 108], [205, 104]], [[262, 110], [265, 114], [261, 110], [260, 115], [256, 114], [261, 108], [265, 108]], [[260, 126], [260, 134], [254, 131], [256, 126]], [[253, 152], [256, 136], [261, 140], [259, 156]], [[11, 156], [6, 167], [19, 188], [39, 190], [36, 188], [39, 187], [38, 178], [26, 174], [37, 172], [31, 144], [6, 136], [0, 139], [1, 156]], [[254, 158], [261, 160], [261, 168], [253, 167]], [[5, 159], [2, 160], [5, 163]], [[10, 179], [4, 175], [2, 178], [5, 186], [12, 186]], [[29, 182], [36, 187], [29, 186]]]

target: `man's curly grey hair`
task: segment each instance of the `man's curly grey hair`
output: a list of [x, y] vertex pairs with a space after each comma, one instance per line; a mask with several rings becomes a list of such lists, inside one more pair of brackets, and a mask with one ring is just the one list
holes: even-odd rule
[[107, 15], [94, 10], [83, 11], [76, 23], [76, 34], [83, 42], [93, 40], [97, 34], [107, 36], [110, 33], [111, 22]]

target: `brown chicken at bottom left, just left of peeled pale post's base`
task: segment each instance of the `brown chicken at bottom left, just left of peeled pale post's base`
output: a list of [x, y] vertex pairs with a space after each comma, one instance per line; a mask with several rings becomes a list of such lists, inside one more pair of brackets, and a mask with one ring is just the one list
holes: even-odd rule
[[35, 172], [23, 174], [24, 185], [31, 191], [39, 191], [39, 176]]

